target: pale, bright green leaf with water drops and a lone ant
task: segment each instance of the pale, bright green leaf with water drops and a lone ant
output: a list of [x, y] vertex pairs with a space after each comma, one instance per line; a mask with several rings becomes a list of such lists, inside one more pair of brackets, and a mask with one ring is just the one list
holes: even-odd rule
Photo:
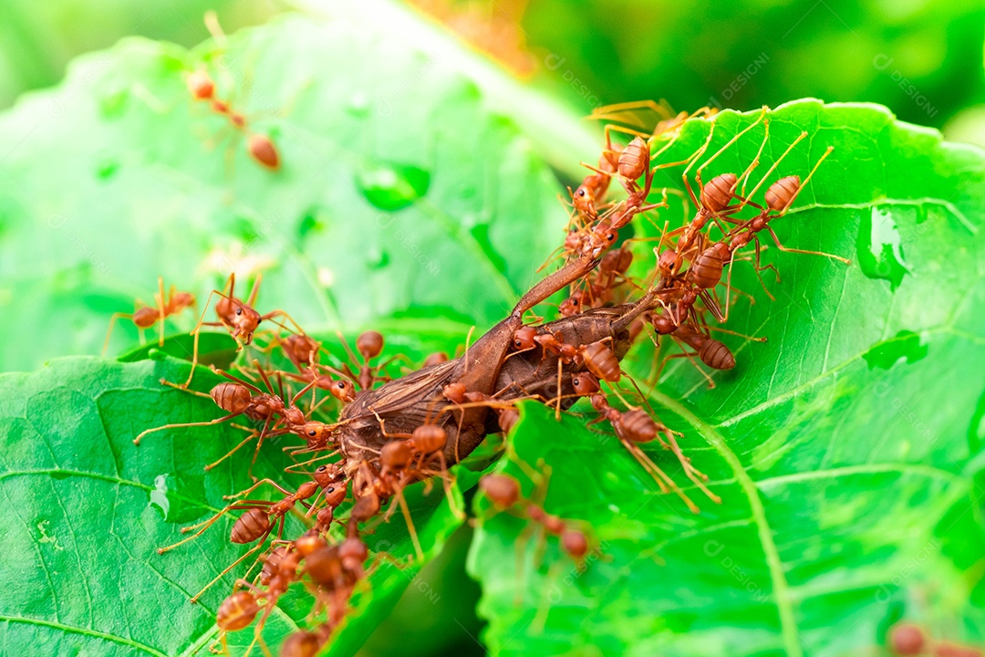
[[[460, 44], [443, 36], [432, 54], [400, 35], [417, 19], [373, 4], [396, 24], [292, 16], [191, 52], [126, 39], [0, 116], [0, 308], [17, 317], [0, 341], [22, 346], [0, 368], [98, 354], [110, 315], [153, 302], [159, 276], [200, 312], [232, 269], [241, 295], [262, 271], [258, 307], [312, 332], [500, 317], [566, 222], [550, 168], [493, 98], [530, 94], [488, 67], [474, 81]], [[272, 138], [280, 170], [191, 99], [185, 78], [200, 69]], [[186, 311], [167, 331], [194, 322]], [[110, 351], [137, 344], [119, 322]]]

